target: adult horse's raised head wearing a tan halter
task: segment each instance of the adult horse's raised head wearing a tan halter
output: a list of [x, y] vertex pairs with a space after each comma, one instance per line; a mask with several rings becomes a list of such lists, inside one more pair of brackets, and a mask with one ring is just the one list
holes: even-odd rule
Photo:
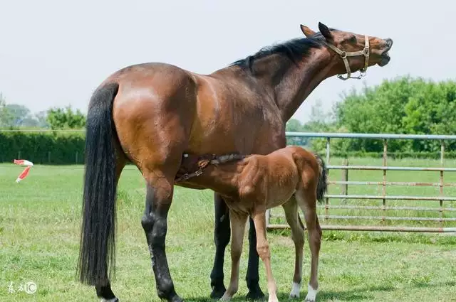
[[[359, 79], [366, 73], [369, 66], [375, 64], [385, 66], [390, 62], [388, 51], [393, 45], [393, 40], [390, 38], [382, 39], [329, 29], [323, 23], [318, 23], [318, 29], [328, 50], [333, 53], [332, 60], [336, 62], [336, 72], [347, 73], [346, 77], [338, 75], [342, 80]], [[315, 38], [318, 34], [304, 25], [301, 25], [301, 31], [307, 38]], [[361, 75], [351, 77], [351, 72], [356, 70], [360, 70]]]

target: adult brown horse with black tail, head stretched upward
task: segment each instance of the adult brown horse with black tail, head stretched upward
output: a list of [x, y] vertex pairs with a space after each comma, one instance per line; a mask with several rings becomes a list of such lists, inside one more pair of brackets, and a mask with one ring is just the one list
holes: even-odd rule
[[[95, 90], [86, 124], [86, 174], [78, 273], [105, 301], [115, 252], [115, 195], [125, 163], [145, 178], [142, 227], [152, 259], [157, 294], [182, 301], [175, 292], [165, 254], [167, 213], [183, 153], [267, 154], [286, 146], [285, 124], [328, 77], [388, 64], [393, 41], [301, 25], [306, 38], [260, 50], [210, 75], [173, 65], [147, 63], [118, 70]], [[179, 183], [204, 189], [197, 176]], [[216, 195], [216, 224], [228, 212]], [[223, 286], [223, 253], [229, 221], [217, 230], [212, 284]], [[226, 226], [228, 225], [228, 227]], [[252, 232], [254, 228], [252, 227]], [[217, 233], [219, 239], [217, 242]], [[251, 237], [252, 238], [252, 237]], [[256, 239], [250, 240], [250, 277], [258, 275]], [[252, 255], [253, 254], [253, 255]], [[256, 259], [256, 260], [255, 260]], [[249, 265], [251, 266], [251, 265]], [[222, 278], [222, 279], [220, 279]], [[258, 278], [257, 278], [258, 279]], [[253, 288], [259, 290], [258, 281]], [[252, 284], [250, 284], [252, 291]], [[215, 295], [224, 288], [214, 288]], [[261, 291], [259, 292], [261, 294]]]

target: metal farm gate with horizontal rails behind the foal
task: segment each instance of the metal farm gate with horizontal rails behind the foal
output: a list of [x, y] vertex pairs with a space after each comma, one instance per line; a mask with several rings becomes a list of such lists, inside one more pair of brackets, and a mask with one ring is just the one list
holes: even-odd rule
[[[445, 141], [456, 140], [456, 135], [405, 135], [405, 134], [346, 134], [346, 133], [306, 133], [286, 132], [287, 138], [323, 138], [326, 139], [326, 165], [328, 168], [328, 194], [323, 205], [318, 204], [318, 220], [323, 230], [356, 230], [356, 231], [390, 231], [390, 232], [456, 232], [456, 168], [445, 168]], [[383, 142], [382, 164], [371, 166], [368, 164], [348, 164], [343, 160], [339, 165], [331, 165], [331, 139], [378, 139]], [[437, 140], [440, 141], [440, 165], [433, 167], [388, 166], [388, 141], [398, 139]], [[359, 160], [358, 160], [359, 161]], [[367, 160], [364, 160], [367, 161]], [[371, 161], [375, 161], [373, 158]], [[380, 158], [377, 159], [380, 161]], [[418, 162], [419, 160], [415, 161]], [[438, 163], [438, 162], [437, 162]], [[332, 175], [339, 173], [338, 179]], [[348, 180], [349, 171], [359, 176], [360, 173], [378, 171], [377, 180]], [[388, 171], [391, 171], [387, 173]], [[398, 171], [403, 171], [402, 173]], [[452, 176], [453, 181], [445, 182]], [[375, 172], [370, 172], [371, 174]], [[394, 173], [393, 178], [388, 180]], [[417, 176], [425, 177], [432, 173], [438, 181], [407, 181]], [[381, 177], [381, 178], [380, 178]], [[353, 178], [351, 178], [353, 179]], [[331, 188], [336, 185], [336, 188]], [[377, 193], [348, 194], [348, 185], [360, 190], [377, 188]], [[334, 189], [341, 190], [341, 194], [334, 194]], [[364, 188], [360, 188], [364, 187]], [[400, 192], [393, 195], [386, 193], [387, 188], [395, 187]], [[435, 192], [425, 192], [434, 189]], [[448, 187], [448, 188], [447, 188]], [[444, 190], [444, 188], [446, 188]], [[438, 189], [438, 192], [437, 192]], [[332, 192], [331, 192], [332, 191]], [[411, 195], [404, 194], [412, 191]], [[446, 192], [445, 192], [446, 191]], [[449, 191], [449, 192], [448, 192]], [[447, 193], [447, 195], [445, 195]], [[452, 194], [452, 196], [451, 196]], [[420, 214], [419, 216], [417, 215]], [[302, 217], [302, 213], [300, 211]], [[304, 221], [304, 220], [303, 220]], [[335, 223], [333, 223], [335, 222]], [[287, 229], [289, 225], [284, 219], [282, 207], [275, 207], [266, 212], [266, 226], [268, 230]]]

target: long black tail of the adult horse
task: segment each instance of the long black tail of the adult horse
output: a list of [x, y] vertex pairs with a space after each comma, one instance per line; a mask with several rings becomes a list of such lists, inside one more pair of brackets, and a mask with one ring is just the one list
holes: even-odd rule
[[86, 122], [83, 221], [78, 260], [83, 284], [105, 285], [115, 259], [115, 144], [113, 99], [118, 83], [98, 87], [93, 93]]

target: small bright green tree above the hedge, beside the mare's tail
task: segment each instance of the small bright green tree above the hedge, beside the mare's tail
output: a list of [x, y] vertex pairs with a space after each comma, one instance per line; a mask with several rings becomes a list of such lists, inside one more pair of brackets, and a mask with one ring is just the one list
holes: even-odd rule
[[73, 112], [71, 106], [49, 109], [46, 120], [51, 129], [81, 129], [86, 126], [84, 114], [79, 109]]

